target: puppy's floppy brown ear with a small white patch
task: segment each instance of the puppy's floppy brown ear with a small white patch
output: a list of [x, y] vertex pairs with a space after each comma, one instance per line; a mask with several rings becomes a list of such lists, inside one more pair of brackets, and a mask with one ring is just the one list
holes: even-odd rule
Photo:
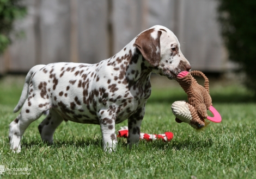
[[162, 31], [149, 29], [139, 34], [135, 40], [135, 46], [139, 49], [144, 59], [150, 65], [156, 67], [159, 65], [161, 58], [160, 36]]

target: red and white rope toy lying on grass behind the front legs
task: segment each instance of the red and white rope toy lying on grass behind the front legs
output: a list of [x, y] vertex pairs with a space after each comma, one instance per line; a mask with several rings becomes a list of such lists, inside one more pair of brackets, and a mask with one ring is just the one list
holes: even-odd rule
[[[127, 138], [128, 137], [128, 127], [127, 126], [121, 127], [121, 129], [118, 131], [117, 137]], [[168, 142], [168, 141], [172, 140], [173, 133], [172, 132], [164, 132], [164, 134], [160, 134], [160, 135], [150, 135], [148, 133], [141, 133], [139, 138], [145, 139], [148, 141], [162, 139], [164, 142]]]

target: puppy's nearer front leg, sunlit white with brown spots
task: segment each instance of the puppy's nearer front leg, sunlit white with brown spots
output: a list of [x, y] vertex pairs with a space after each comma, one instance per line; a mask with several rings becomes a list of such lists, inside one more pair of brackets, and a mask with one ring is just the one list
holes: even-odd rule
[[103, 138], [103, 150], [104, 151], [115, 151], [117, 145], [117, 136], [115, 135], [115, 116], [109, 114], [108, 110], [99, 111], [100, 128]]

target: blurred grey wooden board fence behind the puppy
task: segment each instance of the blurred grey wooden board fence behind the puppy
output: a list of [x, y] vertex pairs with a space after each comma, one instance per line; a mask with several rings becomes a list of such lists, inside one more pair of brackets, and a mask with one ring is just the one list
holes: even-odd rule
[[227, 58], [216, 21], [216, 0], [25, 0], [28, 15], [15, 23], [25, 37], [0, 57], [0, 73], [36, 64], [95, 63], [119, 52], [141, 31], [172, 30], [193, 69], [222, 72]]

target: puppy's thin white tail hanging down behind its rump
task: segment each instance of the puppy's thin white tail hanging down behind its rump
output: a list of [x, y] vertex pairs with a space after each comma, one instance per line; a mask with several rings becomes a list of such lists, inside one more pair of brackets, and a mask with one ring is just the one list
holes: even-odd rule
[[36, 72], [39, 71], [40, 69], [44, 68], [45, 65], [36, 65], [34, 67], [32, 67], [30, 69], [30, 71], [28, 72], [26, 78], [25, 78], [25, 84], [23, 86], [23, 90], [21, 93], [21, 98], [17, 104], [17, 106], [14, 108], [13, 112], [17, 112], [20, 110], [20, 108], [23, 106], [23, 104], [25, 103], [25, 100], [27, 99], [28, 96], [28, 86], [29, 86], [29, 82], [31, 81], [31, 77], [32, 75]]

